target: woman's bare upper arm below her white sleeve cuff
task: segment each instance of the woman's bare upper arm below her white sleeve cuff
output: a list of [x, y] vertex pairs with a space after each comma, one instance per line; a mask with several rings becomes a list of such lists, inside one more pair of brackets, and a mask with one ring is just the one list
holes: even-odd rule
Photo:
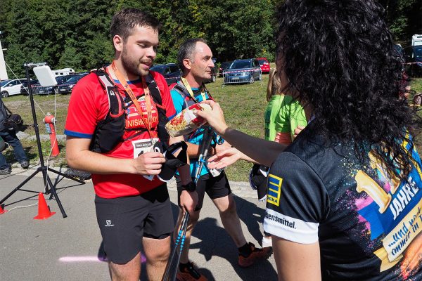
[[271, 236], [279, 281], [321, 280], [319, 243], [300, 244]]

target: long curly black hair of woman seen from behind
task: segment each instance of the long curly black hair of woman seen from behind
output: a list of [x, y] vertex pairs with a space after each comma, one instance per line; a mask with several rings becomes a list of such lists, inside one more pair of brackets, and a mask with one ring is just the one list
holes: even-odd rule
[[361, 160], [375, 149], [405, 178], [411, 163], [401, 141], [413, 149], [407, 132], [421, 122], [399, 99], [402, 65], [383, 14], [374, 0], [286, 0], [278, 8], [279, 70], [284, 91], [312, 108], [319, 133], [354, 140]]

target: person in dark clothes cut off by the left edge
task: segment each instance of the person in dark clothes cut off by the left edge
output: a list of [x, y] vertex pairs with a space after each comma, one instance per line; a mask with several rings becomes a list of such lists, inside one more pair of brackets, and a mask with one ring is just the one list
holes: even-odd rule
[[[0, 89], [1, 92], [1, 89]], [[3, 100], [0, 95], [0, 137], [3, 140], [12, 146], [13, 153], [16, 160], [20, 163], [20, 166], [23, 169], [27, 169], [30, 166], [25, 150], [23, 150], [22, 143], [20, 143], [18, 136], [16, 136], [15, 130], [9, 130], [4, 127], [4, 121], [8, 117], [8, 112], [6, 110], [6, 105], [4, 105]], [[0, 175], [11, 174], [12, 168], [11, 164], [6, 162], [6, 158], [3, 154], [0, 153]]]

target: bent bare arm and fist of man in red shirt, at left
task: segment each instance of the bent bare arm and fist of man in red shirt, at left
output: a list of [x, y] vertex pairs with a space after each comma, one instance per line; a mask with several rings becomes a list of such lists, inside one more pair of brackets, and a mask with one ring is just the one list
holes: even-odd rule
[[158, 175], [165, 158], [160, 152], [146, 152], [136, 159], [109, 157], [89, 150], [89, 138], [66, 139], [66, 160], [74, 169], [94, 174]]

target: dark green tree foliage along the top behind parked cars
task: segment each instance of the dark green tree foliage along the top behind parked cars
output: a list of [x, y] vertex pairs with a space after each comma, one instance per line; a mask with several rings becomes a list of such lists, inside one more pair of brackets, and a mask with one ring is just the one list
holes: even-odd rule
[[[113, 58], [109, 28], [122, 8], [140, 8], [162, 22], [156, 63], [176, 61], [185, 39], [207, 39], [219, 62], [267, 57], [274, 61], [275, 7], [279, 0], [1, 0], [0, 30], [5, 60], [23, 77], [25, 62], [52, 68], [91, 70]], [[380, 0], [401, 43], [422, 34], [422, 1]]]

